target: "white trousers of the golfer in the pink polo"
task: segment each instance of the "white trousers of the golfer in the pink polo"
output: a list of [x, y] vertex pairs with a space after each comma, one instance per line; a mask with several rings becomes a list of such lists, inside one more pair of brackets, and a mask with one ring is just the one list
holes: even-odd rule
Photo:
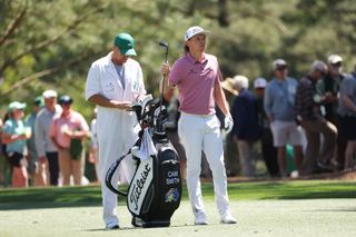
[[182, 112], [178, 122], [178, 134], [186, 149], [187, 187], [194, 215], [205, 215], [199, 178], [201, 150], [205, 151], [212, 172], [218, 213], [220, 216], [225, 215], [229, 211], [229, 200], [218, 118], [215, 115], [196, 116]]

